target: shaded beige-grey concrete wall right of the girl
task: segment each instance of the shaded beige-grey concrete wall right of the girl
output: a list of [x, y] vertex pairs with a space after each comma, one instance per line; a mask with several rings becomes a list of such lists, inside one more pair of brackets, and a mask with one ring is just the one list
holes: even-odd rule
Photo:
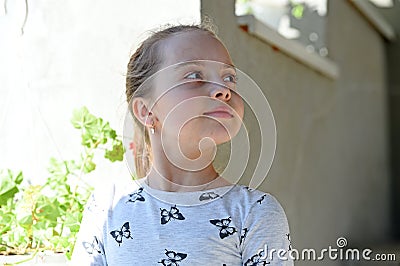
[[390, 190], [380, 35], [348, 1], [329, 1], [329, 56], [340, 69], [332, 80], [240, 29], [234, 0], [201, 3], [202, 15], [213, 19], [235, 64], [263, 88], [274, 112], [276, 156], [260, 188], [282, 203], [294, 247], [336, 247], [338, 237], [361, 247], [386, 241]]

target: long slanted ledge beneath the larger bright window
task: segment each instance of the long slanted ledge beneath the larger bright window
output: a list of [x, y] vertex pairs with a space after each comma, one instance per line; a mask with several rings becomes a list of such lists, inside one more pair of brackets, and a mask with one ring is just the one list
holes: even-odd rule
[[257, 20], [253, 15], [238, 16], [237, 23], [250, 34], [257, 36], [324, 76], [331, 79], [339, 77], [338, 66], [330, 59], [321, 57], [314, 52], [308, 52], [304, 45], [295, 40], [286, 39], [275, 30]]

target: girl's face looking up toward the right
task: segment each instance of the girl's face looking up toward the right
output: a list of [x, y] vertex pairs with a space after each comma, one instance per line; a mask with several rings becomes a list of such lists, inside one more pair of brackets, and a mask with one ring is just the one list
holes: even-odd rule
[[163, 63], [153, 83], [151, 112], [164, 140], [178, 140], [185, 153], [198, 149], [204, 138], [218, 145], [234, 137], [244, 106], [224, 45], [210, 34], [193, 31], [169, 37], [159, 49]]

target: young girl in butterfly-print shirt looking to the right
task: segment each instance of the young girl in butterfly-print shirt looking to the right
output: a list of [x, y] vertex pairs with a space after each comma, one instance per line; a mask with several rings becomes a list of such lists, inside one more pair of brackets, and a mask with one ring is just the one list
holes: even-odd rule
[[292, 265], [280, 204], [212, 164], [244, 112], [216, 35], [186, 25], [153, 33], [132, 55], [126, 81], [144, 177], [92, 196], [73, 265]]

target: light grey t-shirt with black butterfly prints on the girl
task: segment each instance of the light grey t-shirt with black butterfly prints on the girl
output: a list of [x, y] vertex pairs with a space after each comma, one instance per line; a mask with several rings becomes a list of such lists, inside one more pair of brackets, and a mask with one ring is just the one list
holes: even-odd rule
[[290, 249], [285, 213], [268, 193], [166, 192], [141, 179], [92, 195], [72, 265], [293, 265], [282, 256]]

